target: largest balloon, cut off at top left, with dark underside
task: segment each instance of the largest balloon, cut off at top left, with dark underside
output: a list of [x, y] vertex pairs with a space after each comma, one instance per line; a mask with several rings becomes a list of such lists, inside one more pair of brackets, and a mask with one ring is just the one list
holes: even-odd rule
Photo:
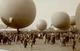
[[0, 17], [12, 28], [24, 28], [35, 19], [36, 8], [33, 0], [0, 0]]

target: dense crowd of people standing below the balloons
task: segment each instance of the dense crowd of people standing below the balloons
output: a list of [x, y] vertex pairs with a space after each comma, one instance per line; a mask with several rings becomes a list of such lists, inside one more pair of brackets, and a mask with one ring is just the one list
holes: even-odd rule
[[72, 43], [72, 49], [75, 50], [76, 41], [80, 42], [79, 33], [73, 32], [26, 32], [26, 33], [0, 33], [0, 44], [9, 44], [20, 42], [24, 48], [29, 44], [31, 48], [36, 44], [36, 39], [42, 39], [44, 44], [55, 44], [60, 41], [61, 46], [67, 46]]

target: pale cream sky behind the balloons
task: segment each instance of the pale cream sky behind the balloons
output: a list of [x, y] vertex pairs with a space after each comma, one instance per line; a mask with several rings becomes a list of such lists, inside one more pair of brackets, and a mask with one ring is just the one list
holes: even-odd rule
[[[80, 0], [33, 0], [36, 6], [36, 18], [28, 26], [28, 29], [36, 29], [37, 21], [46, 20], [48, 27], [51, 25], [51, 17], [55, 12], [66, 12], [69, 16], [74, 16]], [[1, 25], [4, 25], [0, 21]], [[26, 29], [26, 28], [25, 28]]]

